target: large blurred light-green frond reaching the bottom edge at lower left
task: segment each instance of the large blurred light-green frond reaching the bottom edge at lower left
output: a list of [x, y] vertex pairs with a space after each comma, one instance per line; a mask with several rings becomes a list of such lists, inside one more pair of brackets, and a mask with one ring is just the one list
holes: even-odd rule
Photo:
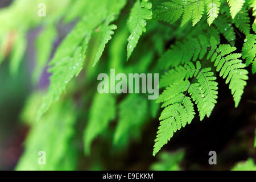
[[[25, 141], [26, 149], [16, 170], [76, 169], [77, 152], [73, 143], [77, 115], [75, 106], [71, 101], [65, 101], [65, 104], [59, 102], [53, 108], [40, 122], [32, 123]], [[40, 151], [46, 155], [44, 165], [39, 165], [42, 159]]]

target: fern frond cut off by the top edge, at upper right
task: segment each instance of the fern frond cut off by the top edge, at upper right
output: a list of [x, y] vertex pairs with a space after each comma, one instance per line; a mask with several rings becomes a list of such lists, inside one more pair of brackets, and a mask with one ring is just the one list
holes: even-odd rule
[[[170, 0], [159, 5], [154, 14], [156, 19], [170, 24], [181, 18], [181, 26], [189, 20], [192, 20], [192, 25], [195, 26], [206, 13], [210, 26], [218, 17], [221, 5], [229, 5], [230, 15], [234, 19], [245, 3], [245, 0]], [[254, 0], [249, 1], [249, 4], [255, 9]]]

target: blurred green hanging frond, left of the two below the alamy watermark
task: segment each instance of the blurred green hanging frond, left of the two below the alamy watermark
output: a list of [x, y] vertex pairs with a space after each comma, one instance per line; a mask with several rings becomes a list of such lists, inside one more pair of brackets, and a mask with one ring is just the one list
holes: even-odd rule
[[90, 153], [90, 144], [115, 118], [115, 98], [109, 94], [96, 94], [90, 107], [89, 121], [84, 133], [84, 151]]

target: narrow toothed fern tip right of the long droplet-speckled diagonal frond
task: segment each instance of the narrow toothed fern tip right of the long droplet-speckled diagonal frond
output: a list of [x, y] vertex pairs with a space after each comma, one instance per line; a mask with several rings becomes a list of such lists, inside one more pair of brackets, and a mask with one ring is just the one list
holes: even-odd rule
[[103, 35], [103, 37], [98, 47], [98, 51], [96, 52], [96, 56], [93, 61], [93, 67], [94, 65], [96, 65], [96, 63], [100, 59], [106, 44], [109, 42], [110, 39], [112, 39], [112, 35], [114, 34], [113, 30], [117, 29], [117, 26], [115, 24], [109, 25], [109, 23], [112, 22], [113, 20], [114, 20], [114, 15], [110, 15], [108, 18], [106, 18], [105, 23], [101, 27], [100, 33]]

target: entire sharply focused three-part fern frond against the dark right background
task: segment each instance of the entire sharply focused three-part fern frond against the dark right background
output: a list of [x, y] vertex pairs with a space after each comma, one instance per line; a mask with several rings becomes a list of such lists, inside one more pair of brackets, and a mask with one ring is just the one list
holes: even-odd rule
[[[156, 102], [164, 107], [159, 119], [160, 126], [155, 139], [153, 155], [170, 140], [177, 130], [191, 123], [195, 116], [193, 102], [199, 111], [200, 120], [205, 115], [210, 116], [217, 98], [217, 82], [208, 62], [214, 67], [222, 78], [226, 79], [237, 107], [248, 79], [247, 71], [242, 63], [241, 53], [234, 53], [236, 47], [229, 44], [217, 45], [217, 41], [205, 36], [198, 39], [188, 39], [184, 43], [178, 42], [166, 52], [172, 65], [176, 68], [167, 72], [160, 80], [160, 86], [166, 87]], [[205, 60], [203, 67], [195, 60]], [[184, 66], [181, 66], [184, 64]], [[191, 79], [189, 81], [189, 79]]]

